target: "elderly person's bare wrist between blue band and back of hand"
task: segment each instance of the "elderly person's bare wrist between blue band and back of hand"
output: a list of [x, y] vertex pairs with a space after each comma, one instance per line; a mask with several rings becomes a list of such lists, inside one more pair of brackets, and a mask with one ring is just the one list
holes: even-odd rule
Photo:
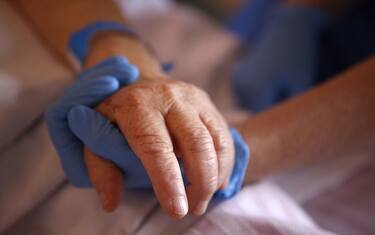
[[140, 80], [166, 77], [155, 55], [139, 39], [123, 32], [97, 33], [90, 42], [84, 67], [91, 67], [112, 56], [124, 56], [136, 65], [140, 71]]

